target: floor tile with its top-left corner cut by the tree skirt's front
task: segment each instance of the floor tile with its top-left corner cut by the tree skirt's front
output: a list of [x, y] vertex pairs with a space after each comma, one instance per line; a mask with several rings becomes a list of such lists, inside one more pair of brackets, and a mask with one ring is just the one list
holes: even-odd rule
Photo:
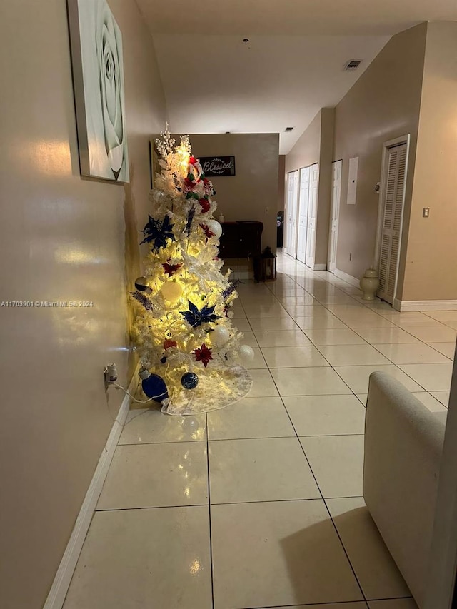
[[208, 413], [210, 440], [295, 437], [281, 398], [244, 398]]

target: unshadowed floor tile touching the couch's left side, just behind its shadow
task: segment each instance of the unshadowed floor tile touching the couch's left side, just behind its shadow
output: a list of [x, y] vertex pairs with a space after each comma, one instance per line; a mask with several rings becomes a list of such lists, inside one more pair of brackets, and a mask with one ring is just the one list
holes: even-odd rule
[[301, 437], [301, 445], [323, 497], [360, 497], [363, 436]]

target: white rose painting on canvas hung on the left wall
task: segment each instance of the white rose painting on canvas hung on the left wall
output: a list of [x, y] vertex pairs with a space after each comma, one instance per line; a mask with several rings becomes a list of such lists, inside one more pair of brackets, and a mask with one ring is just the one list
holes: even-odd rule
[[122, 36], [106, 0], [68, 0], [81, 174], [129, 181]]

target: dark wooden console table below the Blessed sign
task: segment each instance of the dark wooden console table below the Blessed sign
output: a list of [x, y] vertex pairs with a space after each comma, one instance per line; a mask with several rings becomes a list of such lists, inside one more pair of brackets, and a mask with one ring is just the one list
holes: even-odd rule
[[263, 223], [258, 221], [223, 222], [219, 257], [253, 258], [260, 256]]

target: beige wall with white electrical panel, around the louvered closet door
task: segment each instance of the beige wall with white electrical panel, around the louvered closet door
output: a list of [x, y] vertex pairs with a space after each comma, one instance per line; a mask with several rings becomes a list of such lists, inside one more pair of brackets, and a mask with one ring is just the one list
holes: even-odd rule
[[[401, 261], [405, 258], [426, 30], [427, 24], [420, 24], [393, 36], [336, 106], [333, 160], [343, 159], [336, 268], [356, 278], [374, 258], [379, 200], [374, 188], [381, 178], [383, 142], [411, 134]], [[359, 159], [357, 200], [347, 205], [348, 162], [353, 156]], [[400, 288], [402, 281], [400, 273]]]

